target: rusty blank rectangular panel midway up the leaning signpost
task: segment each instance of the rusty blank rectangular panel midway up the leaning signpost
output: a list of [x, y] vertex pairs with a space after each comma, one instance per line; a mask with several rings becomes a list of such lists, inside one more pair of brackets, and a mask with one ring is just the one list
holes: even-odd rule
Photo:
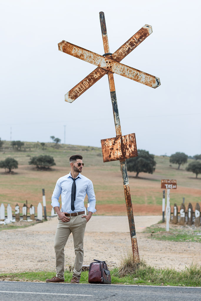
[[135, 133], [101, 140], [103, 162], [137, 157]]

